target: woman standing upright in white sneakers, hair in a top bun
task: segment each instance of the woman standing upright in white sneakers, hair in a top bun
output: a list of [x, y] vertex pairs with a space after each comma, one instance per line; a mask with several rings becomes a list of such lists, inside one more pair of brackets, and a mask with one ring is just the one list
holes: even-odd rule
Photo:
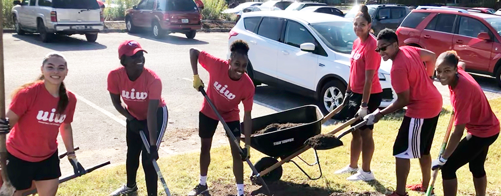
[[[346, 89], [343, 105], [347, 107], [348, 117], [359, 116], [363, 118], [369, 112], [373, 112], [381, 103], [381, 84], [379, 83], [378, 69], [381, 56], [374, 51], [377, 40], [369, 33], [371, 29], [371, 16], [366, 5], [353, 19], [353, 30], [358, 36], [353, 42], [352, 56], [350, 58], [350, 80]], [[355, 122], [358, 124], [362, 120]], [[374, 139], [372, 130], [374, 125], [364, 125], [352, 132], [350, 165], [335, 173], [353, 173], [347, 180], [375, 179], [370, 169], [372, 154], [374, 153]], [[362, 169], [358, 168], [358, 159], [362, 153]]]

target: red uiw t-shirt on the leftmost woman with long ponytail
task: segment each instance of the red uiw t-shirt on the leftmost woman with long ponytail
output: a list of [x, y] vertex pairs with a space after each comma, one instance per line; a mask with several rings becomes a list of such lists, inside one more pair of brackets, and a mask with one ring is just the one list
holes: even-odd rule
[[58, 149], [57, 137], [61, 123], [71, 123], [77, 104], [75, 94], [66, 91], [69, 102], [62, 115], [56, 115], [59, 97], [54, 97], [43, 81], [18, 92], [10, 108], [19, 120], [7, 138], [7, 150], [30, 162], [49, 158]]

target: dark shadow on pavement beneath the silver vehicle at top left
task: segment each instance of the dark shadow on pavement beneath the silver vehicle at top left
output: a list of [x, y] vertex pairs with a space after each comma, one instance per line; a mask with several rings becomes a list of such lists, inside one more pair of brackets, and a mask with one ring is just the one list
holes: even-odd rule
[[[56, 51], [106, 49], [106, 45], [102, 45], [98, 42], [87, 42], [87, 40], [66, 35], [55, 35], [52, 41], [49, 43], [42, 42], [39, 39], [39, 34], [25, 34], [25, 35], [13, 34], [12, 36], [21, 39], [23, 41], [35, 45], [40, 45], [42, 47], [46, 47]], [[99, 35], [98, 35], [98, 41], [99, 41]]]

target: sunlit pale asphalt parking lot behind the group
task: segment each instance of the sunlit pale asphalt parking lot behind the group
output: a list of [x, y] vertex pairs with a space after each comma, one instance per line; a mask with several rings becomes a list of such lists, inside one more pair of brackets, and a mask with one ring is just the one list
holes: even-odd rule
[[[188, 50], [197, 47], [225, 58], [228, 50], [228, 33], [197, 33], [195, 39], [184, 34], [171, 34], [157, 40], [147, 35], [129, 33], [101, 33], [95, 43], [85, 41], [83, 35], [58, 36], [54, 42], [43, 43], [38, 35], [4, 34], [5, 76], [7, 104], [11, 92], [40, 74], [45, 54], [62, 52], [68, 60], [69, 73], [65, 79], [69, 90], [77, 95], [77, 109], [72, 123], [75, 145], [80, 147], [77, 157], [84, 167], [110, 160], [112, 164], [124, 163], [126, 154], [125, 117], [111, 103], [106, 89], [108, 72], [120, 65], [117, 48], [124, 40], [136, 40], [148, 51], [145, 66], [162, 79], [162, 95], [167, 101], [169, 123], [160, 156], [199, 148], [198, 111], [203, 96], [192, 87], [192, 72]], [[200, 68], [202, 69], [202, 68]], [[208, 81], [206, 71], [200, 71], [202, 80]], [[501, 89], [493, 78], [475, 76], [488, 98], [501, 96]], [[435, 82], [449, 103], [448, 89]], [[286, 92], [280, 87], [258, 86], [253, 107], [253, 117], [305, 104], [314, 104], [311, 98]], [[241, 110], [243, 106], [240, 105]], [[243, 114], [241, 114], [243, 117]], [[224, 144], [222, 128], [217, 131], [215, 143]], [[65, 151], [58, 138], [60, 152]], [[71, 174], [71, 165], [61, 161], [63, 175]]]

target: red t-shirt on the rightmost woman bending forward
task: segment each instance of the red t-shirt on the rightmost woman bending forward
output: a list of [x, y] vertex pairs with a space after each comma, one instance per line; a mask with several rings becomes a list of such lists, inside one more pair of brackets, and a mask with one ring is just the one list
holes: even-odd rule
[[450, 103], [454, 108], [454, 125], [466, 124], [468, 133], [477, 137], [490, 137], [499, 132], [499, 120], [492, 112], [480, 85], [462, 69], [457, 70], [457, 85], [450, 90]]

